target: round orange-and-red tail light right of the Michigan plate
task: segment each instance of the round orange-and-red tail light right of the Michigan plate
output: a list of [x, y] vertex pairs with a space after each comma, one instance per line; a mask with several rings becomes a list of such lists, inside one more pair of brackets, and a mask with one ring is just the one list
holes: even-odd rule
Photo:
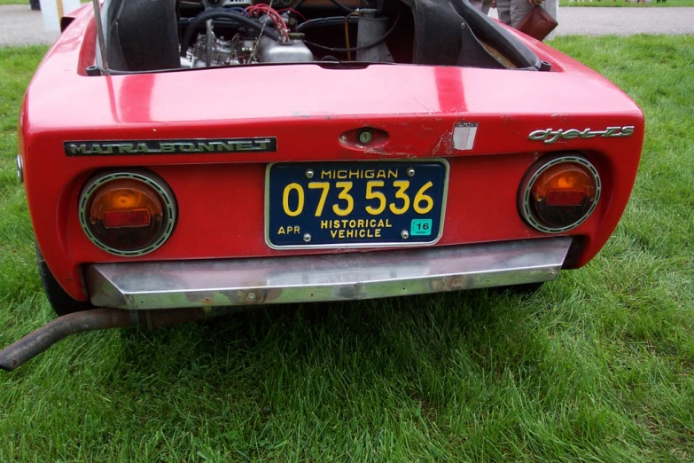
[[600, 198], [600, 177], [586, 158], [550, 157], [536, 162], [519, 189], [519, 212], [527, 224], [560, 233], [582, 224]]

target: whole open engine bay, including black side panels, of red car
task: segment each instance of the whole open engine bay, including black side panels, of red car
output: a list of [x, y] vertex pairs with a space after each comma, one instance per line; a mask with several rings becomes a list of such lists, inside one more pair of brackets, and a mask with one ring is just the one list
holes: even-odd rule
[[545, 70], [467, 0], [106, 0], [113, 69], [423, 64]]

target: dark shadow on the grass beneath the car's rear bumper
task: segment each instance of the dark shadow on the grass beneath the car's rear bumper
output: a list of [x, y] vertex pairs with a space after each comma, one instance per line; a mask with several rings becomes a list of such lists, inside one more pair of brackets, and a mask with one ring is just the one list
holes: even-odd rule
[[[122, 330], [117, 365], [128, 374], [183, 376], [186, 381], [177, 381], [183, 385], [204, 378], [206, 384], [248, 387], [276, 381], [277, 371], [300, 375], [324, 368], [347, 371], [360, 382], [360, 371], [387, 382], [421, 364], [446, 370], [446, 359], [464, 352], [471, 366], [498, 373], [517, 355], [510, 345], [533, 344], [527, 319], [545, 306], [541, 294], [487, 289], [267, 306], [154, 332]], [[500, 343], [510, 357], [489, 349]]]

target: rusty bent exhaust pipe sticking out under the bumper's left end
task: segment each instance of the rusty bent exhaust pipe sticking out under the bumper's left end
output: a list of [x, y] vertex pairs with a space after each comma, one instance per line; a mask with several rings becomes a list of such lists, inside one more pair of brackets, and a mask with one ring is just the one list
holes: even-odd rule
[[136, 325], [146, 325], [153, 330], [160, 326], [202, 320], [233, 311], [238, 311], [238, 308], [220, 307], [178, 310], [94, 309], [75, 312], [51, 320], [19, 341], [0, 350], [0, 369], [12, 372], [19, 365], [23, 365], [70, 334]]

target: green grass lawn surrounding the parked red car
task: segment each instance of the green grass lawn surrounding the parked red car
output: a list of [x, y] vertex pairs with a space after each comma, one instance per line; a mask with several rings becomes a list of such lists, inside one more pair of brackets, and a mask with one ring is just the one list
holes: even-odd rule
[[[586, 268], [532, 296], [77, 335], [0, 373], [0, 461], [692, 461], [694, 36], [553, 45], [647, 115], [633, 198]], [[0, 50], [0, 345], [52, 317], [14, 173], [43, 51]]]

